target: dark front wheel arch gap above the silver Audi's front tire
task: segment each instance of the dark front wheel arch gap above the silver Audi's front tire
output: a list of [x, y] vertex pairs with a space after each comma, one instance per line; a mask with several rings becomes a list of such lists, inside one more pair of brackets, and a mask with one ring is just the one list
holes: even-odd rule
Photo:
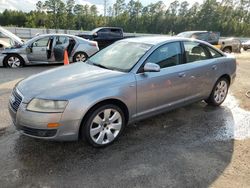
[[105, 104], [113, 104], [113, 105], [117, 105], [119, 108], [121, 108], [121, 110], [123, 111], [124, 113], [124, 117], [125, 117], [125, 124], [128, 123], [129, 121], [129, 110], [128, 110], [128, 107], [127, 105], [119, 100], [119, 99], [115, 99], [115, 98], [111, 98], [111, 99], [104, 99], [102, 101], [99, 101], [97, 103], [95, 103], [94, 105], [92, 105], [88, 111], [85, 113], [85, 115], [83, 116], [82, 120], [81, 120], [81, 123], [80, 123], [80, 126], [79, 126], [79, 138], [81, 137], [81, 128], [84, 126], [84, 123], [87, 121], [88, 117], [90, 116], [90, 114], [97, 108], [99, 108], [100, 106], [103, 106]]

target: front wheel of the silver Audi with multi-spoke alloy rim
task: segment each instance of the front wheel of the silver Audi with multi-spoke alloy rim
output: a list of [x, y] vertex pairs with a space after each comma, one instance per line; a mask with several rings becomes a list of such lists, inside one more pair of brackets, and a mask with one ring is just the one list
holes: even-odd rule
[[82, 125], [81, 136], [94, 147], [105, 147], [117, 140], [124, 127], [123, 111], [116, 105], [106, 104], [89, 113]]

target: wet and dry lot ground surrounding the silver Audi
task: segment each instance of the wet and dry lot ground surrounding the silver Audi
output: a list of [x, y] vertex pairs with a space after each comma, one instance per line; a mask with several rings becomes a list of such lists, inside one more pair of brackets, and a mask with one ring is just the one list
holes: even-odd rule
[[104, 149], [20, 135], [7, 110], [11, 89], [55, 66], [0, 68], [1, 187], [250, 187], [248, 56], [237, 56], [221, 107], [199, 102], [140, 121]]

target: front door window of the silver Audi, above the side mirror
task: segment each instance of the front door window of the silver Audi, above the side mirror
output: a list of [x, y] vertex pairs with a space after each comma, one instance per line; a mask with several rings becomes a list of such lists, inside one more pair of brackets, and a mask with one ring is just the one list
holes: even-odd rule
[[146, 63], [156, 63], [161, 68], [178, 65], [181, 62], [181, 48], [179, 42], [165, 44], [156, 49], [146, 60]]

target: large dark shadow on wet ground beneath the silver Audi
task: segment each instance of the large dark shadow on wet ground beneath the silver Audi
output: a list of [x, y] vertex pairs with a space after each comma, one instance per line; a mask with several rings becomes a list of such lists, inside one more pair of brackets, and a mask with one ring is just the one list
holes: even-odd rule
[[9, 128], [0, 137], [0, 182], [13, 187], [208, 187], [231, 161], [219, 130], [227, 107], [196, 103], [129, 125], [113, 145], [48, 142]]

